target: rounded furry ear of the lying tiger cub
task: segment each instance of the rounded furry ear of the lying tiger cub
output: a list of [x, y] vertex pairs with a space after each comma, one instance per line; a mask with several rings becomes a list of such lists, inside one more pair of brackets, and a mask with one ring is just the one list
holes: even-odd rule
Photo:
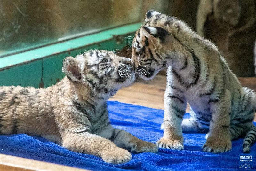
[[64, 72], [72, 82], [81, 80], [81, 66], [76, 58], [66, 57], [62, 62], [62, 72]]

